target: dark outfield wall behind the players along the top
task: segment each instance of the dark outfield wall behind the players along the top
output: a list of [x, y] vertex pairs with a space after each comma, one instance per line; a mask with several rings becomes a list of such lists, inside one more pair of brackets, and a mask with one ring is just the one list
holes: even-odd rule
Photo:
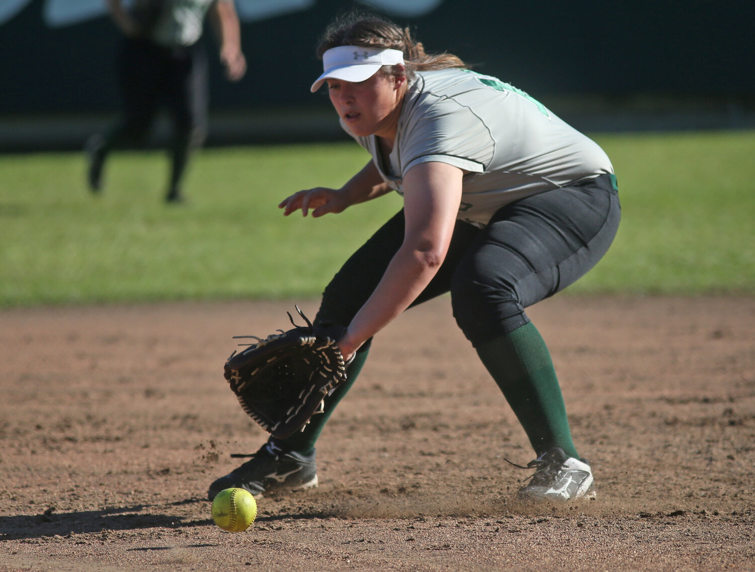
[[[214, 109], [322, 104], [307, 89], [318, 73], [314, 47], [352, 4], [236, 5], [249, 74], [228, 84], [214, 66]], [[375, 0], [373, 8], [412, 26], [427, 50], [449, 50], [539, 96], [695, 93], [746, 104], [755, 93], [752, 2]], [[116, 43], [105, 0], [2, 0], [0, 114], [116, 109]]]

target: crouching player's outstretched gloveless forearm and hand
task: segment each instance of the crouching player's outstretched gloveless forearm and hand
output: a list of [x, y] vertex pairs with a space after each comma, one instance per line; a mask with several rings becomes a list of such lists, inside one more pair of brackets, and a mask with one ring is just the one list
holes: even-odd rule
[[392, 189], [383, 181], [370, 161], [340, 189], [316, 187], [292, 194], [278, 205], [288, 216], [301, 210], [303, 216], [312, 210], [317, 218], [328, 213], [343, 213], [349, 206], [381, 197]]

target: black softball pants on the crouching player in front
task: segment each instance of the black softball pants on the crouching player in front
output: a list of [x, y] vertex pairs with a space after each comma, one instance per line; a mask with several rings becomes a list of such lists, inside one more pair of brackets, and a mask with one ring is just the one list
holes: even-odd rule
[[[485, 228], [457, 222], [445, 261], [411, 305], [450, 291], [474, 347], [528, 323], [526, 307], [574, 283], [608, 251], [621, 218], [615, 181], [601, 175], [517, 200]], [[319, 322], [351, 322], [401, 246], [404, 224], [401, 210], [347, 260], [323, 292]]]

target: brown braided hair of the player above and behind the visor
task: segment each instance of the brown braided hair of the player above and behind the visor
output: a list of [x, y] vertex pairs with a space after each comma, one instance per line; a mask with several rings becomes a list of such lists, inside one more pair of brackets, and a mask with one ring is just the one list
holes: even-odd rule
[[[429, 72], [433, 69], [466, 68], [467, 65], [454, 54], [425, 54], [420, 41], [411, 37], [408, 28], [400, 28], [393, 22], [375, 16], [347, 14], [334, 20], [322, 35], [317, 47], [317, 57], [331, 47], [361, 46], [382, 47], [402, 50], [406, 76], [411, 79], [414, 72]], [[391, 69], [395, 74], [396, 70]]]

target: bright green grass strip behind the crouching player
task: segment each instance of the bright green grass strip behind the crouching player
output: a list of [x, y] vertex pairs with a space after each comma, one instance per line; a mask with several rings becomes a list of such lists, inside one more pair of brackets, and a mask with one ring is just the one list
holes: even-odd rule
[[[606, 258], [567, 292], [755, 293], [755, 132], [600, 134], [623, 219]], [[196, 154], [190, 202], [162, 202], [168, 161], [120, 152], [92, 196], [81, 153], [0, 156], [0, 307], [316, 296], [401, 206], [282, 216], [302, 188], [368, 160], [350, 142]]]

